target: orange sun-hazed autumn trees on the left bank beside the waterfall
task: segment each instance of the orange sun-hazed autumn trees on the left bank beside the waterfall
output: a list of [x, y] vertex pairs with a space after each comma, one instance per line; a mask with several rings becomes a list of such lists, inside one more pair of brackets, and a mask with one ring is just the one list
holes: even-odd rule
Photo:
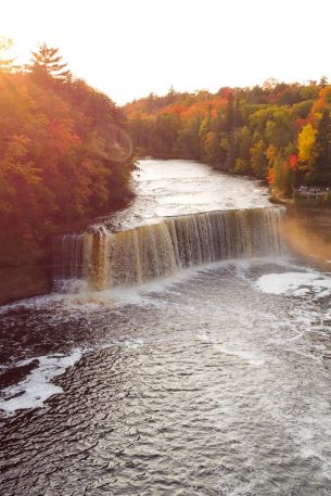
[[41, 44], [26, 66], [0, 46], [0, 267], [47, 260], [51, 239], [123, 206], [133, 167], [126, 116]]

